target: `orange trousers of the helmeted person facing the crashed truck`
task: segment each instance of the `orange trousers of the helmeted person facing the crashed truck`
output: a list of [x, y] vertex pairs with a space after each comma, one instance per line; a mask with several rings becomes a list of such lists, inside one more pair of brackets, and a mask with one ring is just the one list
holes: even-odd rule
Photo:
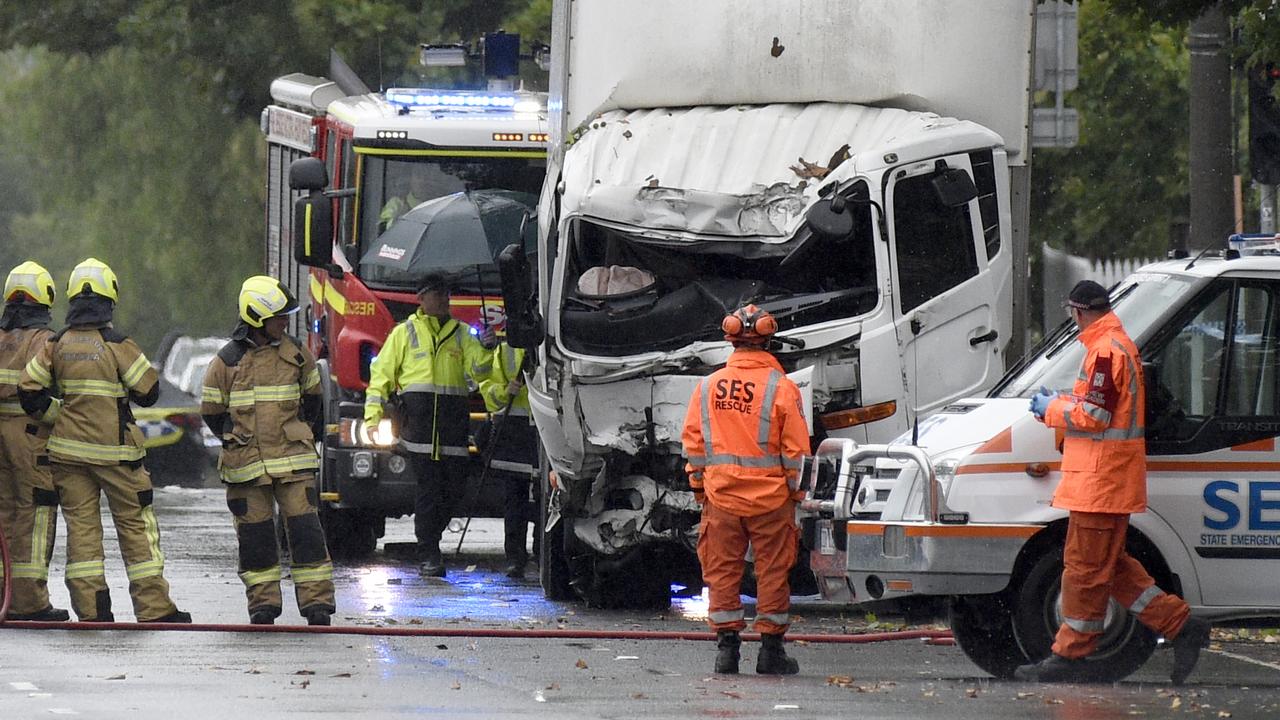
[[741, 587], [748, 543], [755, 548], [755, 629], [773, 635], [786, 633], [791, 625], [787, 575], [797, 544], [792, 501], [753, 518], [733, 515], [710, 502], [703, 505], [698, 560], [710, 594], [707, 621], [717, 632], [746, 626]]

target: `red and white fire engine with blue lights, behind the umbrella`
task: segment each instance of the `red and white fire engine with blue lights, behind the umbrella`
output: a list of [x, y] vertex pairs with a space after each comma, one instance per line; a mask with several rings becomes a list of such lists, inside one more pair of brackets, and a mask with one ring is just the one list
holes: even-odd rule
[[[547, 158], [545, 94], [352, 92], [351, 83], [344, 81], [343, 90], [301, 73], [276, 78], [274, 104], [261, 118], [268, 141], [264, 261], [302, 304], [291, 332], [305, 336], [319, 359], [326, 421], [321, 519], [338, 556], [371, 552], [385, 518], [413, 511], [416, 487], [406, 459], [393, 450], [390, 420], [365, 427], [362, 407], [370, 363], [396, 323], [417, 309], [413, 286], [429, 268], [369, 263], [370, 247], [394, 220], [390, 209], [457, 192], [497, 190], [525, 197], [532, 209]], [[454, 318], [472, 332], [500, 325], [499, 287], [493, 264], [461, 273]]]

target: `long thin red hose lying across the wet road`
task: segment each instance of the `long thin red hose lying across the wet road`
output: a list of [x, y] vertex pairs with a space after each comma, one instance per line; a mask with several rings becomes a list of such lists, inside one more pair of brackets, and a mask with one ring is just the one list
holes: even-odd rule
[[[37, 623], [9, 620], [0, 628], [23, 630], [168, 630], [198, 633], [320, 633], [328, 635], [380, 635], [401, 638], [552, 638], [552, 639], [620, 639], [620, 641], [714, 641], [716, 633], [705, 630], [572, 630], [534, 628], [371, 628], [366, 625], [233, 625], [196, 623], [170, 625], [155, 623]], [[746, 641], [759, 639], [756, 633], [744, 633]], [[864, 634], [792, 633], [791, 641], [808, 643], [874, 643], [888, 641], [946, 641], [948, 630], [897, 630]]]

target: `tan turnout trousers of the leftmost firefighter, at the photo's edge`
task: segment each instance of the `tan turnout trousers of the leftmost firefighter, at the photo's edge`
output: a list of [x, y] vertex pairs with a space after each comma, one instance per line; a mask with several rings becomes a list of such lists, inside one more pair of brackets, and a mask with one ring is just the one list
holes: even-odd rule
[[0, 416], [0, 529], [13, 564], [9, 611], [14, 615], [50, 607], [49, 561], [58, 532], [58, 492], [45, 455], [47, 434], [26, 416]]

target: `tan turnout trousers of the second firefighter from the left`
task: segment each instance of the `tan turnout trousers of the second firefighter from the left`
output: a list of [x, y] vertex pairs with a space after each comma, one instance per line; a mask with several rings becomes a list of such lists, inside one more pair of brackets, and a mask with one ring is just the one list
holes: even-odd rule
[[111, 510], [138, 621], [177, 612], [164, 579], [160, 524], [152, 507], [151, 477], [137, 465], [52, 462], [54, 487], [67, 520], [67, 589], [81, 620], [113, 620], [102, 552], [101, 496]]

